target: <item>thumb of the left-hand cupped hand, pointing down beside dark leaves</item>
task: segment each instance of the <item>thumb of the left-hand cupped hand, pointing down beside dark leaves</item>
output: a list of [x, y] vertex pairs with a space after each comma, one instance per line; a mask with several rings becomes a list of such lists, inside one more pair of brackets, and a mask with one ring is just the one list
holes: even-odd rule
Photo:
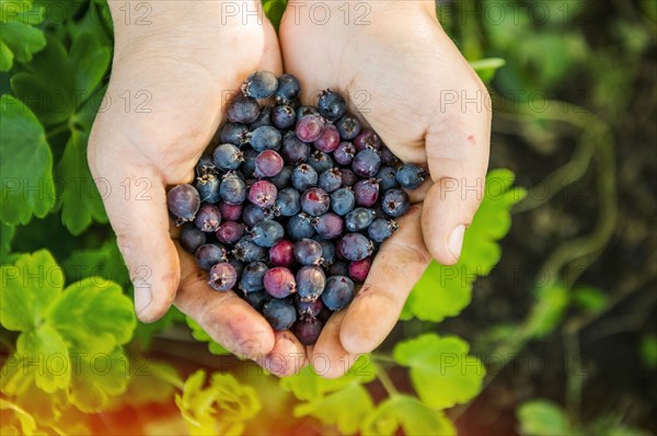
[[[180, 263], [169, 236], [164, 182], [150, 165], [134, 165], [129, 153], [115, 151], [112, 135], [90, 138], [89, 164], [135, 287], [135, 311], [143, 322], [161, 318], [173, 302]], [[114, 147], [114, 150], [112, 149]]]

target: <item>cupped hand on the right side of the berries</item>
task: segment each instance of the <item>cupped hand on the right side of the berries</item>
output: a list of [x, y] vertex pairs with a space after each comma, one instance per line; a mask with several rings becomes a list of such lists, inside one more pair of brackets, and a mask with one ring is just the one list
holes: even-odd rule
[[491, 134], [486, 89], [434, 8], [434, 1], [316, 8], [290, 1], [281, 23], [285, 68], [302, 89], [346, 94], [350, 111], [400, 159], [426, 164], [430, 173], [354, 302], [328, 320], [311, 349], [310, 362], [326, 377], [342, 375], [385, 339], [431, 259], [458, 261], [482, 199]]

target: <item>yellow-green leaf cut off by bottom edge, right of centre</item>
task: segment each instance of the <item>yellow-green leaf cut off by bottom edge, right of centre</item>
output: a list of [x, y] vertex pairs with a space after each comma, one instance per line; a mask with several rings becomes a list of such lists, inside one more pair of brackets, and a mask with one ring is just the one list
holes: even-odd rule
[[406, 436], [456, 435], [451, 421], [440, 411], [427, 408], [408, 395], [393, 395], [370, 412], [361, 425], [361, 434], [392, 436], [397, 428]]

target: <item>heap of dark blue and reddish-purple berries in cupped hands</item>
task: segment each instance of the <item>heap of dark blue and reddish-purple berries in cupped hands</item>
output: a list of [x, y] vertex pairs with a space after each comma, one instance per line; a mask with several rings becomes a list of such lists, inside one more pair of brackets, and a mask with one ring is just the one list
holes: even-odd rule
[[239, 288], [274, 330], [311, 345], [408, 211], [403, 188], [426, 173], [401, 164], [339, 94], [323, 91], [314, 107], [300, 105], [299, 92], [293, 76], [251, 74], [220, 145], [168, 204], [214, 289]]

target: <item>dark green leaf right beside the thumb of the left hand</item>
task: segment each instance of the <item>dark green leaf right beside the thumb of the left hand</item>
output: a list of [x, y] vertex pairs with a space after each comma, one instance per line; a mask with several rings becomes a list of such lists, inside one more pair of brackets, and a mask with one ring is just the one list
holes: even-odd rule
[[72, 234], [80, 234], [93, 222], [107, 222], [103, 199], [87, 164], [89, 134], [73, 129], [55, 170], [62, 190], [57, 198], [61, 222]]

